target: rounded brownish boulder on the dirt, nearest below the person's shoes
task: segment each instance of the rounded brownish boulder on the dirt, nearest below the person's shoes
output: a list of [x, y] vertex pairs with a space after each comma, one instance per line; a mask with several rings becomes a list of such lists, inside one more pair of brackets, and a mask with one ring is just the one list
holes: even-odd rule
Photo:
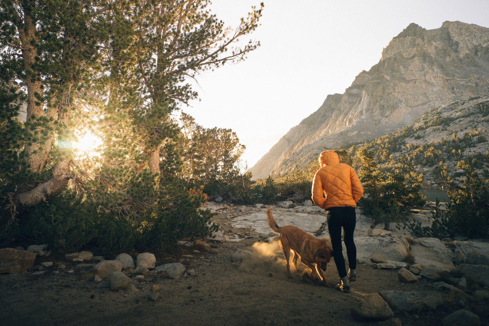
[[394, 312], [378, 293], [370, 293], [354, 305], [352, 315], [358, 320], [387, 320], [394, 317]]

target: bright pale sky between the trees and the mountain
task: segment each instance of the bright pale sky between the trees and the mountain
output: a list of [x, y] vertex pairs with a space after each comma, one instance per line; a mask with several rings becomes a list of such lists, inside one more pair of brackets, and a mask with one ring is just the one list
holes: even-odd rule
[[[259, 0], [213, 0], [213, 13], [235, 28]], [[380, 60], [382, 48], [411, 22], [434, 29], [445, 21], [489, 27], [489, 0], [264, 0], [262, 44], [237, 65], [198, 78], [200, 102], [183, 111], [205, 128], [230, 128], [252, 167], [328, 94], [344, 93]]]

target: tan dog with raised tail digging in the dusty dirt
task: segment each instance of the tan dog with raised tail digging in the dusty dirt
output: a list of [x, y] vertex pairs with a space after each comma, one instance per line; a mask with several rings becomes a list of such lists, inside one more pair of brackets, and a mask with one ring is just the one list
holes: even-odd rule
[[292, 262], [296, 271], [299, 271], [297, 268], [297, 258], [300, 258], [304, 265], [311, 268], [312, 278], [316, 278], [317, 273], [321, 278], [323, 285], [331, 287], [331, 285], [326, 282], [322, 272], [326, 271], [328, 262], [330, 262], [333, 257], [333, 250], [326, 244], [326, 241], [317, 239], [293, 225], [279, 227], [269, 209], [267, 209], [267, 221], [268, 226], [273, 232], [280, 233], [278, 241], [280, 248], [282, 248], [282, 251], [284, 252], [285, 260], [287, 261], [287, 276], [289, 276], [290, 279], [292, 278], [289, 263], [290, 250], [292, 250], [294, 253]]

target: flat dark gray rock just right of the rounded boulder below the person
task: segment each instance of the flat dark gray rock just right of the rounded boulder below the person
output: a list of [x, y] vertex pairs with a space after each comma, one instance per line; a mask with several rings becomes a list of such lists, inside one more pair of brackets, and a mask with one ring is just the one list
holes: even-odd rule
[[443, 304], [441, 296], [429, 295], [426, 292], [384, 290], [380, 291], [379, 294], [395, 313], [431, 311]]

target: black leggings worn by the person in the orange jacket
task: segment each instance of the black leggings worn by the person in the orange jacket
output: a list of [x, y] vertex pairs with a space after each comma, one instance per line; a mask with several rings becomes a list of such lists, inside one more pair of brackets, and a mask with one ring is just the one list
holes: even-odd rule
[[328, 217], [328, 230], [330, 233], [331, 244], [333, 245], [333, 257], [339, 277], [346, 276], [345, 259], [343, 258], [343, 248], [341, 246], [341, 228], [344, 230], [344, 241], [348, 264], [351, 269], [356, 269], [356, 246], [353, 241], [355, 231], [356, 213], [355, 207], [331, 207], [326, 212]]

